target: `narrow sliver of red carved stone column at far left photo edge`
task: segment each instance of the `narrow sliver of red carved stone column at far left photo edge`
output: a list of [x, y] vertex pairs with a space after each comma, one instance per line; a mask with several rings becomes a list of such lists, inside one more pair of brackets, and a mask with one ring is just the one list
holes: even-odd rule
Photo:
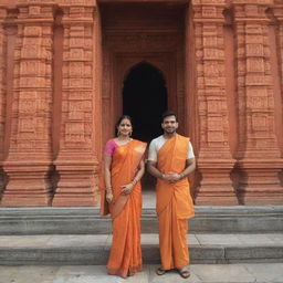
[[7, 17], [4, 7], [0, 7], [0, 200], [3, 191], [3, 142], [4, 142], [4, 111], [6, 111], [6, 34], [3, 22]]

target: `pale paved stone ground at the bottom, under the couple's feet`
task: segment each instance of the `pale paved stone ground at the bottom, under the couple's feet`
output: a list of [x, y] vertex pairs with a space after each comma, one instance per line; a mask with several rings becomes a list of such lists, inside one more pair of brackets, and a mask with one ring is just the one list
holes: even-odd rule
[[102, 265], [0, 266], [0, 283], [283, 283], [283, 263], [196, 264], [191, 276], [181, 279], [175, 271], [155, 274], [157, 265], [126, 280], [108, 276]]

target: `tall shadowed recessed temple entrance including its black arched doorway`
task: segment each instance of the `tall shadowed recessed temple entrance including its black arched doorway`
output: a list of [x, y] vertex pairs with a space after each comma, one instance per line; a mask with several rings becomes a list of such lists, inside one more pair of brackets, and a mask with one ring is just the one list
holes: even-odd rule
[[[186, 132], [185, 2], [99, 4], [102, 19], [102, 144], [113, 137], [122, 114], [132, 116], [133, 137], [149, 143], [159, 136], [161, 114], [179, 116]], [[143, 190], [153, 192], [155, 178], [143, 177]], [[145, 197], [144, 193], [144, 197]], [[153, 193], [151, 193], [153, 195]], [[149, 200], [153, 197], [149, 193]]]

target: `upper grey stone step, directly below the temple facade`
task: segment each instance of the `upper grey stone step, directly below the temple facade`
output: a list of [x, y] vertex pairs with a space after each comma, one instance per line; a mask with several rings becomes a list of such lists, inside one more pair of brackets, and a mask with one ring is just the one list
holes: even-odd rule
[[[157, 233], [154, 208], [143, 210], [143, 233]], [[197, 206], [192, 233], [283, 233], [283, 206]], [[97, 208], [0, 208], [0, 235], [108, 234], [111, 219]]]

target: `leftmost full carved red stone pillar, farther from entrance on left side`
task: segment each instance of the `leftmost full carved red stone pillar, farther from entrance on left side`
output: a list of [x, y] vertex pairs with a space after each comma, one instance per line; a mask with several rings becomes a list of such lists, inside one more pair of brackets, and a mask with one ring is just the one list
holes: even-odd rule
[[9, 177], [1, 206], [49, 206], [51, 184], [52, 38], [50, 1], [18, 6]]

